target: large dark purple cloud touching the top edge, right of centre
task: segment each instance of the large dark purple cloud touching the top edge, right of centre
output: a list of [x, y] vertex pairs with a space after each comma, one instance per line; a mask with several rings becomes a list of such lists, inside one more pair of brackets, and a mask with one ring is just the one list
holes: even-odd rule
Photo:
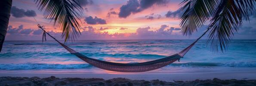
[[126, 18], [132, 13], [138, 13], [149, 7], [156, 5], [164, 5], [168, 3], [167, 0], [129, 0], [127, 3], [120, 7], [120, 12], [118, 14], [119, 18]]

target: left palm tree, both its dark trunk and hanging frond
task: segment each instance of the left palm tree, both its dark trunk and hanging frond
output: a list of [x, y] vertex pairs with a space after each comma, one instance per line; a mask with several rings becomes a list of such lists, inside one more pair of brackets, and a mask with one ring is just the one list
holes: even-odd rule
[[[43, 16], [54, 20], [54, 26], [62, 29], [62, 37], [74, 40], [80, 36], [80, 23], [83, 8], [78, 0], [34, 0]], [[12, 0], [0, 0], [0, 52], [6, 36]]]

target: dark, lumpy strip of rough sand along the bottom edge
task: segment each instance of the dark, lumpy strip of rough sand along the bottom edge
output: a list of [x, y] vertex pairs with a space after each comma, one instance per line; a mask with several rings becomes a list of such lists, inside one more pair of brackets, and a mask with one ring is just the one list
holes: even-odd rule
[[0, 86], [254, 86], [256, 80], [190, 80], [166, 82], [162, 80], [130, 80], [126, 78], [58, 78], [58, 77], [0, 77]]

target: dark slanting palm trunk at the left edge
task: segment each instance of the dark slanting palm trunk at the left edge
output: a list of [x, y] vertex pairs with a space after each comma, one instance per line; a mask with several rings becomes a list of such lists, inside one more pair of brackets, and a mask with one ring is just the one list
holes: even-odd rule
[[11, 14], [12, 0], [0, 0], [0, 52], [7, 33], [7, 27]]

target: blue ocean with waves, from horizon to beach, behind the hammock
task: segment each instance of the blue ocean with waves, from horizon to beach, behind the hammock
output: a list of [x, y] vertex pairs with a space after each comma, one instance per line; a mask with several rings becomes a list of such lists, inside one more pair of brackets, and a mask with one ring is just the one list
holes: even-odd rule
[[[145, 62], [173, 55], [194, 40], [78, 40], [65, 43], [90, 58], [118, 63]], [[23, 45], [16, 45], [23, 44]], [[212, 52], [207, 40], [198, 41], [173, 64], [143, 72], [194, 73], [256, 70], [256, 40], [231, 40], [225, 52]], [[53, 40], [5, 41], [0, 53], [0, 73], [107, 73], [71, 55]]]

